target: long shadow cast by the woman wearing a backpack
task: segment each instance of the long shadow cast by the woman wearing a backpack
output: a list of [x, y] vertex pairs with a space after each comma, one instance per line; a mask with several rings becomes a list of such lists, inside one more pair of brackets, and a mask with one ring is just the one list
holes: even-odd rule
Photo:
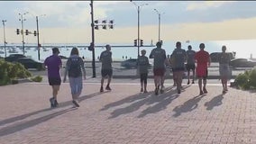
[[12, 125], [9, 125], [7, 127], [4, 127], [2, 129], [0, 129], [0, 137], [12, 134], [12, 133], [20, 131], [20, 130], [30, 128], [32, 126], [35, 126], [35, 125], [41, 123], [41, 122], [48, 121], [48, 120], [50, 120], [50, 119], [52, 119], [56, 116], [59, 116], [59, 115], [61, 115], [63, 113], [66, 113], [66, 112], [74, 111], [76, 109], [77, 108], [69, 107], [68, 109], [64, 109], [64, 110], [61, 110], [59, 112], [53, 112], [53, 113], [44, 115], [42, 117], [39, 117], [37, 119], [33, 119], [31, 121], [21, 121], [21, 122], [14, 123]]

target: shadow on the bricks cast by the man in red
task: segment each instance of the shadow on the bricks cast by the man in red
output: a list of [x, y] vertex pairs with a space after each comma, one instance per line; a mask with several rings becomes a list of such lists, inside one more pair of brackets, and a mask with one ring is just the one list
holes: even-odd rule
[[183, 112], [191, 112], [195, 110], [198, 106], [198, 103], [200, 100], [205, 96], [206, 94], [202, 95], [197, 95], [196, 97], [193, 97], [192, 99], [187, 100], [185, 103], [182, 105], [176, 106], [173, 111], [175, 112], [173, 114], [174, 117], [178, 117], [181, 115]]

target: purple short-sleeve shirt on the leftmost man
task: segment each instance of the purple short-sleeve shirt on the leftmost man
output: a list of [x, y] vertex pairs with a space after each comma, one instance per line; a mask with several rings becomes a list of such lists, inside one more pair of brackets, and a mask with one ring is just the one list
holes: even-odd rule
[[48, 77], [60, 78], [59, 66], [62, 66], [61, 58], [58, 55], [51, 55], [44, 60], [44, 65], [48, 70]]

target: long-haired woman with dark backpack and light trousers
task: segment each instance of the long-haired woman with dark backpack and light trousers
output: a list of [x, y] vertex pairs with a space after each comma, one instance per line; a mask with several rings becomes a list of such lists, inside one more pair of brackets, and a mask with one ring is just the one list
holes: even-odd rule
[[73, 48], [70, 52], [70, 57], [66, 64], [63, 82], [66, 82], [66, 77], [69, 75], [69, 85], [72, 94], [72, 103], [79, 107], [78, 97], [83, 89], [83, 77], [86, 79], [86, 68], [84, 61], [79, 57], [78, 48]]

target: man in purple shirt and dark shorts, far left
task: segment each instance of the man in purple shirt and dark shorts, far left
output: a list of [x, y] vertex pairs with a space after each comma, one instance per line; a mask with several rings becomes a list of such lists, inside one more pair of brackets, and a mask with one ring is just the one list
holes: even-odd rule
[[58, 106], [57, 94], [61, 83], [59, 70], [62, 67], [61, 58], [59, 58], [59, 49], [53, 48], [52, 55], [44, 60], [44, 66], [48, 70], [49, 85], [52, 87], [52, 97], [50, 98], [50, 107]]

